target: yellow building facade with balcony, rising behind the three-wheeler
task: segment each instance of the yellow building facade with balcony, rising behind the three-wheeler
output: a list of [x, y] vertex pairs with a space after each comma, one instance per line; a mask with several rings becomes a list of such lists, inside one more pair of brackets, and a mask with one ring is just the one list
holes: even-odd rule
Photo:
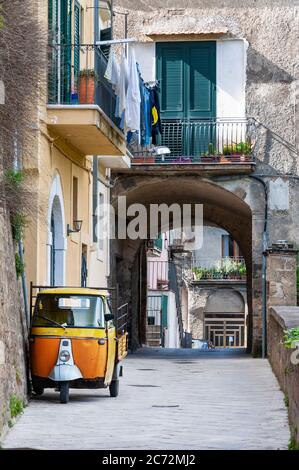
[[105, 51], [95, 46], [102, 31], [111, 30], [111, 15], [86, 0], [44, 3], [39, 18], [48, 37], [47, 75], [39, 90], [36, 160], [24, 164], [35, 201], [25, 239], [26, 278], [37, 285], [106, 287], [109, 220], [103, 208], [110, 202], [110, 167], [130, 165], [113, 122]]

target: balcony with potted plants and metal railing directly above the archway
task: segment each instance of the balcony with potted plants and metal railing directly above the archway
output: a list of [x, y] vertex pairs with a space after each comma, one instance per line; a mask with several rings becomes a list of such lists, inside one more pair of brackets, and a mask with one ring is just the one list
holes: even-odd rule
[[132, 147], [134, 169], [205, 169], [213, 173], [254, 171], [256, 126], [251, 119], [162, 120], [159, 146]]

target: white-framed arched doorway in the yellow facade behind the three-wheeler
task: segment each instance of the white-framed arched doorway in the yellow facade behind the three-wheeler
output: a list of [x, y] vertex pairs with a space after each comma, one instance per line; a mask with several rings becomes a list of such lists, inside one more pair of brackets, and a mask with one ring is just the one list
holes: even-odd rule
[[51, 186], [48, 210], [47, 284], [51, 286], [65, 285], [65, 230], [62, 187], [57, 173]]

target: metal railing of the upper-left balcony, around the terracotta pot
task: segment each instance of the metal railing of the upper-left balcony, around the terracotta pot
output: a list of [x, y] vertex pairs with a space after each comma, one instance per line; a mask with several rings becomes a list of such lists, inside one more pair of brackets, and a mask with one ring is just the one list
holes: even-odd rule
[[107, 58], [94, 45], [52, 45], [48, 49], [48, 103], [98, 105], [119, 127], [116, 95], [105, 78]]

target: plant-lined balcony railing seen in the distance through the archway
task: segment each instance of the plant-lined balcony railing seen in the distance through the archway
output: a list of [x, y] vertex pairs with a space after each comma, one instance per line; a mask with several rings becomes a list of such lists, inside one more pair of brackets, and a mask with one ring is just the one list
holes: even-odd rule
[[183, 276], [188, 281], [246, 280], [246, 264], [242, 257], [191, 258], [185, 262]]

